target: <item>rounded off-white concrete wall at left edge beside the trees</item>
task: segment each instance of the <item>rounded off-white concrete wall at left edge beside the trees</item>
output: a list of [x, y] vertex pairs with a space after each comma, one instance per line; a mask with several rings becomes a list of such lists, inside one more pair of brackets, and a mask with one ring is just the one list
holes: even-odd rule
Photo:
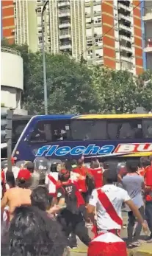
[[1, 104], [21, 108], [23, 91], [23, 59], [20, 52], [1, 47]]

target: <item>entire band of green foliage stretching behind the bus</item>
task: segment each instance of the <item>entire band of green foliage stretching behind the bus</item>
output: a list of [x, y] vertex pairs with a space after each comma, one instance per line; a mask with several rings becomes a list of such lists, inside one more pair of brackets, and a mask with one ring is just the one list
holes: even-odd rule
[[[3, 46], [10, 46], [3, 39]], [[23, 58], [23, 108], [29, 114], [43, 114], [43, 58], [41, 52], [29, 52], [28, 46], [11, 45]], [[69, 55], [46, 53], [46, 77], [49, 114], [131, 113], [137, 107], [152, 109], [152, 73], [133, 77], [128, 71], [101, 66], [87, 68]]]

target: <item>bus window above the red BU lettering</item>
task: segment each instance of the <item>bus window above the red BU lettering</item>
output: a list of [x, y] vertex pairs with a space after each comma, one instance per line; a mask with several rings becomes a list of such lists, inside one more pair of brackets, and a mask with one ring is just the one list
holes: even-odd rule
[[109, 139], [142, 138], [142, 120], [109, 120]]

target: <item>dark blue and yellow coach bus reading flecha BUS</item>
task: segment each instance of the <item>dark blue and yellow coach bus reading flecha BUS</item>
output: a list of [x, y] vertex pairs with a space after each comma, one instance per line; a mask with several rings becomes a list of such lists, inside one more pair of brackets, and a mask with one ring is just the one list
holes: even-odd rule
[[19, 160], [120, 158], [152, 154], [152, 114], [32, 117], [12, 152]]

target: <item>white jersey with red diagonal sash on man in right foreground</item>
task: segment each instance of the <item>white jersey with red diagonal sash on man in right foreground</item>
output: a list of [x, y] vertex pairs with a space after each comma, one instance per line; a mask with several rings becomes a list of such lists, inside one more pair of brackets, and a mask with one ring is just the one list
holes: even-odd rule
[[[102, 187], [102, 191], [109, 198], [109, 201], [112, 203], [117, 215], [122, 218], [121, 207], [123, 202], [129, 201], [131, 198], [126, 190], [123, 190], [120, 187], [116, 187], [113, 184], [106, 184]], [[118, 225], [115, 221], [112, 220], [106, 209], [101, 204], [101, 201], [98, 199], [97, 190], [93, 190], [92, 195], [90, 196], [90, 205], [96, 207], [97, 212], [97, 226], [99, 230], [109, 230], [109, 229], [121, 229], [121, 226]]]

